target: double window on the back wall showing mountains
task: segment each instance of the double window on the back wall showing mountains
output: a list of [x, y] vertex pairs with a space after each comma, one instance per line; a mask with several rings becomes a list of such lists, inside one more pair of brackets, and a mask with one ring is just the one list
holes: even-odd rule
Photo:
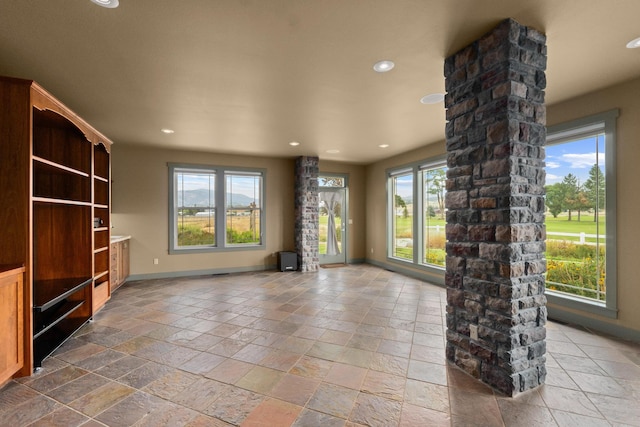
[[169, 253], [263, 247], [264, 175], [169, 164]]

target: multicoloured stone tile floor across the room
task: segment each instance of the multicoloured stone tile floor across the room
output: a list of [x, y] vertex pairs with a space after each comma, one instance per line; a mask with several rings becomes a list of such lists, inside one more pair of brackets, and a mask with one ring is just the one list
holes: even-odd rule
[[445, 290], [369, 265], [131, 282], [2, 426], [640, 426], [640, 345], [548, 323], [547, 383], [505, 398], [444, 357]]

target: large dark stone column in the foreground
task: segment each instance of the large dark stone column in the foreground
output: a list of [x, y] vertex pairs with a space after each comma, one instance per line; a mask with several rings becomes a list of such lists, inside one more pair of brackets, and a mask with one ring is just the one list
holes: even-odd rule
[[509, 396], [546, 376], [545, 68], [512, 19], [445, 61], [447, 359]]

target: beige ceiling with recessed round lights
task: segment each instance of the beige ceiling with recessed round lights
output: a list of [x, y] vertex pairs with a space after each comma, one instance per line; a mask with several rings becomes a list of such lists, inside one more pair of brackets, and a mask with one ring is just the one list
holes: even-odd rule
[[367, 164], [444, 139], [420, 98], [508, 17], [547, 34], [548, 104], [640, 77], [638, 0], [0, 0], [0, 74], [116, 144]]

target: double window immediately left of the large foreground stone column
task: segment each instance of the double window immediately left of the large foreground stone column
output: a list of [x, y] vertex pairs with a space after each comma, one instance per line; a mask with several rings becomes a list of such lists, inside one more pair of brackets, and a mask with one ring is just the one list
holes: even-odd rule
[[445, 184], [443, 159], [388, 172], [390, 258], [445, 266]]

